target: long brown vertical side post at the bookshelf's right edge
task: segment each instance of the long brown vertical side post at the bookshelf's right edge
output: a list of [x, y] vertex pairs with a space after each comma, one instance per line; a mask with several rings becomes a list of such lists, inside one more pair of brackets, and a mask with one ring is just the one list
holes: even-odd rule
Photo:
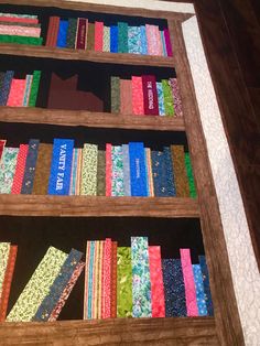
[[[212, 176], [192, 74], [188, 66], [181, 24], [169, 21], [181, 87], [184, 121], [198, 190], [202, 230], [209, 269], [216, 329], [221, 345], [241, 346], [243, 335], [232, 286], [218, 201]], [[173, 40], [174, 37], [174, 40]]]

